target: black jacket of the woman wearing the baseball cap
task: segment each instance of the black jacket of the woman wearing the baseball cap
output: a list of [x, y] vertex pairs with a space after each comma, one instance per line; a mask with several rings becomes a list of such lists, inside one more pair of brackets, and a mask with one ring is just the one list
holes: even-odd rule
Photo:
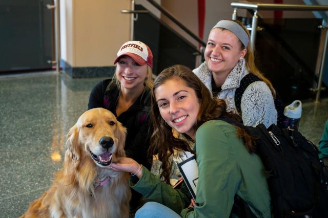
[[[90, 94], [88, 110], [103, 107], [116, 116], [119, 90], [115, 84], [109, 85], [110, 81], [111, 79], [106, 79], [94, 86]], [[116, 116], [117, 120], [128, 130], [125, 144], [127, 157], [134, 159], [149, 170], [152, 162], [147, 156], [152, 130], [149, 118], [150, 106], [150, 90], [147, 89], [127, 111]]]

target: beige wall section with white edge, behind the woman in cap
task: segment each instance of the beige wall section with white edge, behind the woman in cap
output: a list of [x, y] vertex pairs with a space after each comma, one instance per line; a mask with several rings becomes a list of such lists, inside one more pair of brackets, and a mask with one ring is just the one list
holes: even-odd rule
[[131, 0], [61, 0], [61, 59], [72, 67], [112, 66], [130, 39]]

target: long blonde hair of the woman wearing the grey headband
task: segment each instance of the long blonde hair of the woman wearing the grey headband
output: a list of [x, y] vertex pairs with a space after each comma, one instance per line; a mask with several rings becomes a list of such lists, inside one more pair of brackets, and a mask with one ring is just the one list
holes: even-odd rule
[[[245, 25], [243, 25], [241, 23], [241, 21], [239, 20], [232, 20], [230, 19], [231, 21], [234, 21], [235, 23], [237, 23], [240, 27], [242, 27], [242, 29], [247, 33], [248, 35], [248, 38], [250, 40], [250, 32], [248, 31], [247, 27], [245, 27]], [[220, 29], [223, 29], [223, 30], [226, 30], [224, 28], [220, 28]], [[246, 61], [246, 68], [247, 70], [254, 74], [255, 76], [257, 76], [258, 78], [260, 78], [263, 82], [265, 82], [268, 86], [269, 86], [269, 89], [271, 90], [271, 93], [273, 95], [273, 98], [276, 98], [276, 91], [275, 89], [273, 88], [273, 85], [272, 83], [270, 82], [270, 80], [265, 77], [261, 71], [256, 67], [256, 64], [255, 64], [255, 55], [254, 55], [254, 52], [251, 48], [251, 43], [249, 42], [247, 47], [245, 48], [245, 46], [243, 45], [243, 43], [239, 40], [239, 43], [240, 43], [240, 49], [241, 50], [244, 50], [246, 49], [247, 50], [247, 53], [245, 55], [245, 61]]]

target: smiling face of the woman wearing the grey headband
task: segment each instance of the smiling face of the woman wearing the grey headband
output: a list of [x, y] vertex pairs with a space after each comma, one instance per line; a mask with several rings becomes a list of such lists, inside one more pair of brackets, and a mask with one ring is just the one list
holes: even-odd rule
[[234, 33], [215, 28], [210, 32], [204, 58], [210, 71], [228, 75], [246, 53]]

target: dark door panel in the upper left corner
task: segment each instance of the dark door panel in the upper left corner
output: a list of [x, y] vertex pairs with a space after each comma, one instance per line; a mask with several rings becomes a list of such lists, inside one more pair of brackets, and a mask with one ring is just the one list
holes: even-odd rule
[[0, 3], [0, 74], [50, 69], [53, 18], [51, 0], [2, 0]]

